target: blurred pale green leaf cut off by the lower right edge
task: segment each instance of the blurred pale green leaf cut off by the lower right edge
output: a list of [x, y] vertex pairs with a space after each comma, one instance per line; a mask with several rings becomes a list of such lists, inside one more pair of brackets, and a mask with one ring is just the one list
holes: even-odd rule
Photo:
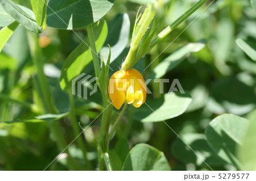
[[243, 163], [245, 170], [256, 170], [256, 110], [249, 113], [250, 121], [243, 145], [238, 149], [238, 158]]

